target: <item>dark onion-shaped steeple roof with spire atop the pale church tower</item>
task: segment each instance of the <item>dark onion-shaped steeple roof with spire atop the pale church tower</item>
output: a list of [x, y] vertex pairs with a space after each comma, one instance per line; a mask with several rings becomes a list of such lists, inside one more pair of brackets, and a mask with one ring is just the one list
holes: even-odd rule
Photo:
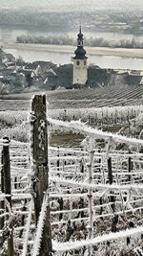
[[75, 57], [73, 57], [74, 59], [86, 59], [86, 51], [83, 48], [83, 34], [81, 32], [81, 26], [79, 28], [79, 34], [77, 35], [77, 49], [75, 50], [74, 54]]

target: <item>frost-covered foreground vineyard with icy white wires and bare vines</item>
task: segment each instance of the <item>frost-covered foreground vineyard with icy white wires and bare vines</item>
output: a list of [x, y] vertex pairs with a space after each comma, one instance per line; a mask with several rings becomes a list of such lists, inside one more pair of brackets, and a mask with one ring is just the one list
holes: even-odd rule
[[[10, 255], [143, 255], [143, 141], [79, 121], [44, 121], [40, 114], [32, 108], [31, 144], [0, 140], [0, 255], [7, 255], [11, 241]], [[82, 148], [46, 149], [47, 126], [49, 132], [84, 134]], [[42, 254], [45, 230], [48, 254]]]

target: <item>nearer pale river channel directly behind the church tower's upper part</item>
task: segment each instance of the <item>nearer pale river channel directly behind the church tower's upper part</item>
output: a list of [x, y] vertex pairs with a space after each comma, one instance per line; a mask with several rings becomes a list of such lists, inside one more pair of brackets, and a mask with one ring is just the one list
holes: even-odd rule
[[[56, 64], [71, 63], [72, 54], [67, 53], [51, 53], [48, 51], [28, 51], [17, 49], [6, 49], [7, 53], [12, 54], [15, 58], [21, 56], [25, 61], [32, 62], [36, 60], [52, 61]], [[96, 64], [101, 68], [114, 69], [143, 69], [143, 58], [123, 58], [115, 56], [98, 56], [88, 55], [89, 64]]]

